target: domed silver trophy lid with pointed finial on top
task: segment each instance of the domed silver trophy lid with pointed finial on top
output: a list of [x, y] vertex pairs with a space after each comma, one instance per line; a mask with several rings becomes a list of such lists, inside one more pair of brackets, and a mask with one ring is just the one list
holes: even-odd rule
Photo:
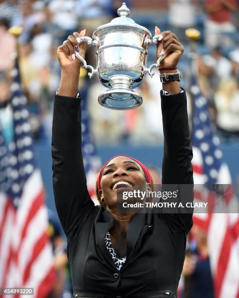
[[103, 28], [109, 28], [109, 27], [117, 27], [117, 26], [120, 26], [120, 27], [125, 27], [125, 28], [134, 28], [138, 31], [144, 31], [146, 32], [149, 36], [151, 36], [151, 32], [135, 23], [135, 21], [133, 19], [130, 19], [128, 18], [129, 14], [130, 14], [130, 10], [129, 8], [126, 6], [126, 3], [123, 2], [122, 3], [122, 6], [117, 10], [117, 14], [118, 14], [118, 18], [115, 18], [115, 19], [112, 19], [109, 23], [105, 24], [105, 25], [102, 25], [102, 26], [99, 26], [93, 33], [93, 35], [97, 32], [99, 32], [101, 29]]

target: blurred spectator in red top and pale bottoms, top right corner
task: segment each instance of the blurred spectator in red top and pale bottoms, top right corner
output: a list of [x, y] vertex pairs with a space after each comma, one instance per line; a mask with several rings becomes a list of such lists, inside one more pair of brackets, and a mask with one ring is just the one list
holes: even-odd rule
[[230, 46], [232, 41], [225, 34], [234, 33], [232, 12], [237, 8], [236, 0], [206, 0], [207, 20], [205, 22], [205, 41], [211, 47]]

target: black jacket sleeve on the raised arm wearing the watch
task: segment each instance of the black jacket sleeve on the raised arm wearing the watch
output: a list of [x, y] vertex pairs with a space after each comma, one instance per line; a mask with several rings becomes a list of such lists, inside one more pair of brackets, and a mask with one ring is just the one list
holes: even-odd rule
[[[189, 137], [186, 93], [164, 95], [161, 91], [161, 106], [164, 128], [162, 184], [173, 184], [181, 190], [184, 189], [178, 203], [193, 202], [193, 153]], [[183, 193], [186, 193], [186, 197]], [[168, 216], [186, 233], [189, 232], [192, 226], [191, 209], [180, 209]]]

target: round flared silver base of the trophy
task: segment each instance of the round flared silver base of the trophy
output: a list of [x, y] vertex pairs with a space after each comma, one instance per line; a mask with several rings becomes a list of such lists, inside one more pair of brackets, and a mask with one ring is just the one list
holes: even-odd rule
[[132, 110], [142, 104], [142, 97], [130, 89], [133, 83], [130, 76], [112, 75], [109, 82], [112, 88], [98, 97], [101, 106], [111, 110]]

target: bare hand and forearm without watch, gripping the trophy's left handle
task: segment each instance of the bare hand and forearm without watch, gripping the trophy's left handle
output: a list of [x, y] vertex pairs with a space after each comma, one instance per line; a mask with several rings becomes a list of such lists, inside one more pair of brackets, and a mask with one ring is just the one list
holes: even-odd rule
[[80, 33], [74, 32], [57, 49], [58, 60], [61, 66], [60, 86], [58, 95], [75, 97], [78, 91], [79, 74], [82, 62], [75, 57], [74, 48], [79, 48], [79, 54], [85, 57], [86, 42], [78, 45], [80, 37], [85, 35], [86, 30]]

